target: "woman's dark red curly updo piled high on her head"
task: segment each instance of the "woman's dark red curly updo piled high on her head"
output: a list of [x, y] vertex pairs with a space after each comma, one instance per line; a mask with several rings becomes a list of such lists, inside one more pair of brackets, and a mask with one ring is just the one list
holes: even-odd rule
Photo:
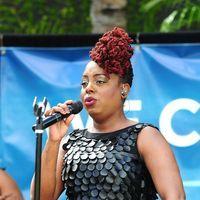
[[122, 29], [115, 27], [106, 32], [90, 51], [90, 58], [95, 61], [109, 76], [118, 74], [123, 83], [131, 87], [133, 69], [130, 58], [133, 55], [133, 40]]

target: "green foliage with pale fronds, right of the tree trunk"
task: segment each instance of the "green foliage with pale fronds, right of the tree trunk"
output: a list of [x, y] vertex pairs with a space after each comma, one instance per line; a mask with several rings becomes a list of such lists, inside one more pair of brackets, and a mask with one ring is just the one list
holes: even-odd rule
[[197, 30], [200, 27], [200, 1], [129, 0], [128, 19], [129, 31], [133, 32]]

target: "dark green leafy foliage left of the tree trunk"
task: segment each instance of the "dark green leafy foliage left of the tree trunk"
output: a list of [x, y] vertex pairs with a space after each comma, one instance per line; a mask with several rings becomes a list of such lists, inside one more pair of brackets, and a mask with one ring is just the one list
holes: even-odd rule
[[89, 33], [89, 1], [0, 0], [1, 33]]

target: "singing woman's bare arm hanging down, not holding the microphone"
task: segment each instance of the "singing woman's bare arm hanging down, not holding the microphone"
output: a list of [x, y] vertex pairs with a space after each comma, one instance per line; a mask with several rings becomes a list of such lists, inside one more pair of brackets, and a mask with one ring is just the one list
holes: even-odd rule
[[185, 193], [175, 157], [161, 133], [149, 126], [144, 128], [138, 136], [137, 147], [161, 199], [184, 200]]

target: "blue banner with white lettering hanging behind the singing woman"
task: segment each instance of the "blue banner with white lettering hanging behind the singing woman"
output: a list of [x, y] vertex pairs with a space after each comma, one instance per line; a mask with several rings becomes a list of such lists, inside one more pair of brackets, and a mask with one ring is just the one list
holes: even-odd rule
[[[0, 167], [17, 181], [25, 199], [30, 199], [35, 161], [33, 99], [47, 97], [48, 106], [78, 100], [89, 50], [1, 47]], [[137, 45], [132, 64], [135, 76], [125, 113], [159, 127], [177, 159], [187, 200], [199, 200], [200, 45]], [[90, 122], [83, 110], [70, 129]]]

